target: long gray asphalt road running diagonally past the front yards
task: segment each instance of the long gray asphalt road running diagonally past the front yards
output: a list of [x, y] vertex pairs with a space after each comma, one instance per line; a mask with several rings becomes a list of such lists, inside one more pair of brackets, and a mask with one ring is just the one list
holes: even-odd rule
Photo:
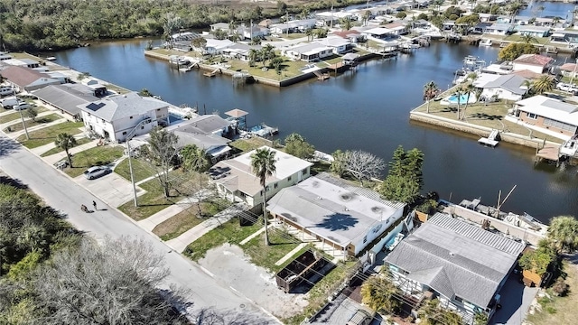
[[0, 170], [15, 180], [29, 186], [52, 208], [60, 210], [79, 230], [90, 236], [117, 238], [121, 236], [140, 237], [150, 243], [154, 250], [164, 256], [165, 265], [171, 274], [166, 283], [175, 284], [186, 292], [191, 302], [187, 309], [191, 315], [205, 315], [205, 321], [199, 324], [275, 324], [273, 317], [266, 314], [255, 303], [230, 290], [224, 282], [203, 272], [199, 265], [186, 257], [173, 252], [162, 241], [136, 226], [132, 220], [112, 207], [98, 201], [98, 211], [84, 213], [80, 205], [92, 209], [95, 196], [85, 190], [68, 176], [44, 163], [42, 159], [23, 148], [21, 144], [8, 139], [0, 132]]

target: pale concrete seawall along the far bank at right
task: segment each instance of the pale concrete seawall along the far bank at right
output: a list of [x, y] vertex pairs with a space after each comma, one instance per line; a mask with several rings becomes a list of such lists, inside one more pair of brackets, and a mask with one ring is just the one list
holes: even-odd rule
[[[472, 124], [469, 124], [466, 122], [456, 121], [456, 120], [452, 120], [452, 119], [441, 117], [441, 116], [432, 116], [432, 115], [427, 114], [427, 113], [415, 112], [415, 111], [412, 111], [409, 114], [409, 119], [414, 120], [414, 121], [423, 122], [423, 123], [430, 124], [430, 125], [442, 126], [442, 127], [448, 128], [448, 129], [465, 132], [465, 133], [468, 133], [471, 135], [480, 135], [480, 137], [488, 136], [492, 130], [491, 128], [486, 127], [486, 126], [472, 125]], [[504, 141], [504, 142], [507, 142], [510, 144], [519, 144], [519, 145], [524, 145], [524, 146], [531, 147], [531, 148], [542, 147], [544, 144], [555, 144], [555, 143], [552, 143], [549, 141], [545, 141], [544, 139], [529, 138], [526, 135], [517, 135], [514, 133], [508, 133], [508, 132], [500, 132], [499, 138], [501, 141]]]

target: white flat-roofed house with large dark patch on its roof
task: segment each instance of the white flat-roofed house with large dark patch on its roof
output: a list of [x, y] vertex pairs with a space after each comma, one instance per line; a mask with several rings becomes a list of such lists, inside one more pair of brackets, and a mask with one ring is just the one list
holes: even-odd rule
[[405, 206], [327, 173], [280, 190], [267, 202], [267, 210], [284, 224], [351, 256], [402, 218]]

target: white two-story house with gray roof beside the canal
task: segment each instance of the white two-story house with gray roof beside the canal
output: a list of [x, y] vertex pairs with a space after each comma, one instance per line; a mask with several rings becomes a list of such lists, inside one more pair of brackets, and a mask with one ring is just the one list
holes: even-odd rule
[[144, 135], [154, 126], [168, 125], [169, 106], [162, 100], [130, 92], [78, 107], [87, 131], [120, 143], [135, 127], [135, 135]]

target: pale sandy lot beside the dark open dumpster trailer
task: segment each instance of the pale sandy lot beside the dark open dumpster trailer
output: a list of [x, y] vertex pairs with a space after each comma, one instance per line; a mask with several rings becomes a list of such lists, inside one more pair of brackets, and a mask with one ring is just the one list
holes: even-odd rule
[[244, 295], [278, 318], [291, 317], [307, 305], [305, 295], [285, 293], [277, 288], [275, 274], [249, 262], [247, 255], [238, 246], [225, 244], [207, 252], [199, 261], [219, 281], [227, 283], [236, 292]]

